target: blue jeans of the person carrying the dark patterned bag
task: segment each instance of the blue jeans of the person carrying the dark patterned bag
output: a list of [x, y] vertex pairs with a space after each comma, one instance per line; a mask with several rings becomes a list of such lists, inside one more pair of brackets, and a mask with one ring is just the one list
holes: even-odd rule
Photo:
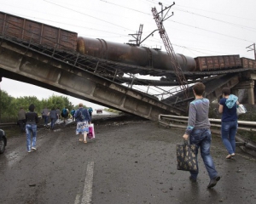
[[[196, 158], [198, 155], [198, 149], [201, 150], [201, 158], [204, 161], [205, 167], [207, 168], [207, 172], [209, 177], [215, 178], [218, 176], [218, 172], [215, 169], [214, 163], [212, 161], [212, 156], [210, 155], [210, 147], [212, 141], [212, 133], [210, 129], [194, 129], [189, 136], [190, 144], [196, 144]], [[198, 169], [198, 163], [196, 163]], [[190, 171], [192, 178], [197, 178], [199, 170]]]

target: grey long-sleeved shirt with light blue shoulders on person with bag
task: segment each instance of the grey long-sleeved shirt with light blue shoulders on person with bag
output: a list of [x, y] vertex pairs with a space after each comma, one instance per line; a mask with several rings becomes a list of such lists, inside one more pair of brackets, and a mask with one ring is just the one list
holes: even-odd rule
[[211, 124], [209, 122], [209, 100], [195, 99], [189, 104], [189, 121], [188, 127], [186, 129], [186, 134], [190, 134], [194, 128], [210, 128]]

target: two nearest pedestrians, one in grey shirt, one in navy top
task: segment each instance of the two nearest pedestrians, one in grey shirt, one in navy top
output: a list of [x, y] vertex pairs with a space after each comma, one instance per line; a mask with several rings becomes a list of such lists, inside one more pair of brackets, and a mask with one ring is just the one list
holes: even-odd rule
[[[183, 134], [183, 139], [189, 140], [190, 144], [196, 146], [196, 157], [198, 150], [201, 150], [201, 157], [207, 168], [207, 173], [210, 178], [210, 183], [207, 188], [214, 187], [221, 178], [218, 174], [212, 156], [210, 154], [210, 147], [212, 141], [212, 133], [210, 130], [211, 124], [209, 122], [209, 99], [203, 97], [205, 92], [205, 85], [201, 82], [195, 83], [193, 87], [193, 94], [195, 100], [189, 104], [189, 121], [188, 127]], [[236, 152], [236, 131], [237, 131], [237, 115], [236, 105], [239, 105], [236, 95], [230, 94], [230, 88], [223, 88], [222, 99], [219, 101], [218, 111], [222, 113], [221, 122], [221, 137], [228, 156], [226, 159], [231, 159], [235, 156]], [[189, 179], [196, 182], [198, 176], [198, 163], [197, 171], [190, 171]]]

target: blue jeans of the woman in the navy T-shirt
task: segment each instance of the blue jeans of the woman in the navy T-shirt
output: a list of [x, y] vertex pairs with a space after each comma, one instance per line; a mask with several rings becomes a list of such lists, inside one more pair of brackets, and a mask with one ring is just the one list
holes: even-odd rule
[[237, 121], [221, 122], [221, 138], [229, 154], [236, 151]]

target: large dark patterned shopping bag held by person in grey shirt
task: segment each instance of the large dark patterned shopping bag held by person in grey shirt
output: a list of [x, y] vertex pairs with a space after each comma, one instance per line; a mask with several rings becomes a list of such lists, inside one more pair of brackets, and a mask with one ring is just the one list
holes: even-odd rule
[[197, 171], [196, 145], [188, 144], [187, 140], [183, 144], [177, 144], [177, 170]]

